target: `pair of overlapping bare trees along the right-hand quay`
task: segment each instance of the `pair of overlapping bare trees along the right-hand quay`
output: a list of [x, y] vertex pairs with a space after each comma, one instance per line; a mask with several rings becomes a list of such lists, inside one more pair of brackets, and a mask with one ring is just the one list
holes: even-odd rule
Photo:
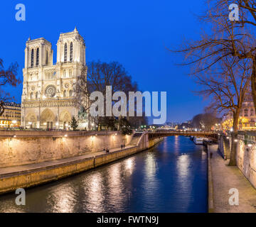
[[[230, 21], [230, 4], [238, 4], [239, 21]], [[184, 54], [182, 65], [192, 66], [191, 75], [200, 86], [198, 94], [212, 100], [210, 107], [233, 112], [229, 165], [236, 165], [238, 118], [248, 91], [256, 107], [256, 1], [208, 0], [206, 6], [199, 18], [207, 31], [176, 52]]]

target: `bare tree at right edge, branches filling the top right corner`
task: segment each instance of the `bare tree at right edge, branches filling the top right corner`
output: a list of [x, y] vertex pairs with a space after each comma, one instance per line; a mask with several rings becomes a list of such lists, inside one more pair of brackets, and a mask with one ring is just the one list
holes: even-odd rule
[[[239, 21], [230, 21], [228, 18], [228, 6], [237, 4], [239, 7]], [[252, 62], [251, 71], [251, 93], [256, 109], [256, 1], [255, 0], [209, 0], [208, 11], [203, 16], [203, 20], [214, 23], [213, 33], [223, 36], [223, 38], [213, 38], [210, 45], [215, 46], [215, 52], [210, 56], [216, 56], [215, 61], [220, 60], [219, 52], [222, 56], [235, 56], [240, 60], [247, 59]], [[216, 48], [217, 45], [220, 47]], [[206, 43], [202, 43], [205, 45]], [[220, 45], [219, 45], [220, 44]], [[206, 56], [203, 56], [206, 57]], [[199, 60], [199, 59], [198, 59]], [[201, 61], [201, 60], [200, 60]], [[212, 61], [214, 65], [214, 61]]]

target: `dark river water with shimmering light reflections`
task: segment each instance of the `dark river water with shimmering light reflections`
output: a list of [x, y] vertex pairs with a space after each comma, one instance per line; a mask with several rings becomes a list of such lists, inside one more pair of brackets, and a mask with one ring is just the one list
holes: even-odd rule
[[0, 196], [0, 212], [206, 212], [203, 145], [171, 136], [150, 150], [58, 182]]

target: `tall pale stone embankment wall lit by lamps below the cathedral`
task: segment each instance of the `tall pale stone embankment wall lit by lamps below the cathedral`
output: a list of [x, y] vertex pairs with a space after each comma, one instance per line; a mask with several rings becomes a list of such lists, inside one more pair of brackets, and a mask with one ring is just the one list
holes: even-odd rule
[[[66, 135], [66, 136], [65, 136]], [[0, 167], [26, 165], [120, 148], [132, 135], [116, 131], [0, 131]]]

